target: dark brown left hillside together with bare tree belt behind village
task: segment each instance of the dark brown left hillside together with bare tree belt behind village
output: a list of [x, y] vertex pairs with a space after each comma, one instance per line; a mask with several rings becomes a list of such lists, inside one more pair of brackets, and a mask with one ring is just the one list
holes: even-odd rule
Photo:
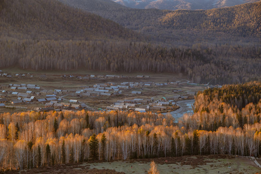
[[[191, 40], [195, 35], [194, 30], [179, 29], [184, 32], [180, 36], [181, 40], [174, 37], [175, 42], [173, 38], [167, 41], [154, 34], [154, 39], [158, 39], [154, 42], [154, 39], [141, 37], [141, 34], [124, 29], [112, 21], [54, 0], [0, 2], [0, 68], [16, 65], [33, 70], [67, 71], [82, 68], [112, 72], [184, 73], [195, 83], [208, 83], [212, 80], [213, 84], [261, 79], [261, 49], [250, 37], [246, 38], [248, 43], [237, 39], [238, 44], [234, 44], [228, 37], [224, 43], [214, 39], [216, 43], [193, 44]], [[95, 6], [103, 2], [106, 1], [93, 4]], [[116, 9], [119, 6], [113, 2], [108, 4]], [[128, 8], [122, 8], [123, 11], [125, 9]], [[143, 11], [149, 15], [136, 21], [138, 25], [134, 27], [137, 29], [149, 25], [154, 14], [163, 16], [167, 12], [155, 9]], [[139, 15], [136, 11], [132, 13], [135, 17]], [[124, 19], [125, 22], [128, 21], [127, 18]], [[144, 23], [145, 18], [150, 20], [145, 20]], [[144, 30], [153, 33], [155, 29], [148, 27]], [[200, 38], [213, 35], [212, 31], [200, 32], [204, 33], [204, 36], [199, 35]], [[199, 36], [194, 38], [195, 41], [198, 41]], [[193, 45], [186, 46], [188, 42]], [[181, 46], [183, 44], [185, 46]]]

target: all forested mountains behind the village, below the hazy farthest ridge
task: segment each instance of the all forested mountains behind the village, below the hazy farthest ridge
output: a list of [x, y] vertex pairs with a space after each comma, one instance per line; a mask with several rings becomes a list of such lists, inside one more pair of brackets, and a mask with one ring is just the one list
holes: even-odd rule
[[[88, 9], [81, 2], [70, 4]], [[0, 0], [0, 68], [169, 72], [215, 84], [260, 79], [261, 2], [174, 12], [106, 0], [92, 7], [129, 29], [56, 0]], [[238, 36], [245, 34], [247, 42]]]

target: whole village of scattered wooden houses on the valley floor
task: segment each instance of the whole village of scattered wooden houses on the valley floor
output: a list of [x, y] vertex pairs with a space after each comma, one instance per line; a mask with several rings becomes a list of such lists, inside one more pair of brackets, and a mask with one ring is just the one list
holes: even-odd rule
[[[3, 73], [0, 78], [48, 80], [48, 74]], [[176, 102], [194, 99], [195, 90], [184, 92], [181, 81], [153, 82], [149, 75], [57, 74], [61, 81], [77, 80], [77, 87], [46, 87], [44, 84], [0, 84], [0, 109], [16, 111], [129, 111], [166, 113], [179, 108]], [[120, 80], [118, 80], [120, 79]], [[36, 80], [36, 81], [37, 81]], [[129, 80], [133, 80], [130, 82]], [[104, 82], [104, 83], [101, 83]], [[90, 84], [89, 84], [90, 83]], [[85, 85], [88, 84], [88, 85]], [[161, 91], [162, 88], [166, 91]], [[157, 90], [160, 89], [160, 90]], [[168, 89], [168, 90], [167, 90]], [[159, 95], [160, 94], [160, 95]], [[162, 95], [166, 94], [166, 95]], [[183, 95], [185, 94], [185, 95]], [[103, 104], [97, 104], [98, 102]], [[11, 110], [11, 111], [9, 111]]]

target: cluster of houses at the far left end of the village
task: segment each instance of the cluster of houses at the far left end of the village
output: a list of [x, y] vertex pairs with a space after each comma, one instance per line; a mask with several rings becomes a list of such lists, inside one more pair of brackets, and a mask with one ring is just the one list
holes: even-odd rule
[[[66, 94], [67, 90], [41, 89], [33, 84], [9, 84], [0, 86], [0, 107], [20, 107], [17, 104], [41, 104], [42, 108], [31, 108], [32, 110], [54, 110], [70, 109], [77, 110], [86, 108], [87, 105], [77, 100], [65, 100], [61, 94]], [[76, 91], [73, 91], [76, 92]], [[9, 104], [9, 105], [6, 105]]]

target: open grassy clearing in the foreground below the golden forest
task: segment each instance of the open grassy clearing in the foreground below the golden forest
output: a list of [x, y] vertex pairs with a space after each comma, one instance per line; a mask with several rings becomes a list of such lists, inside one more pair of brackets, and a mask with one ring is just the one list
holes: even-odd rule
[[[154, 160], [160, 174], [261, 174], [247, 157], [228, 155], [183, 156], [112, 162], [69, 163], [23, 171], [20, 174], [147, 174]], [[185, 171], [185, 172], [184, 172]], [[9, 173], [9, 172], [6, 172]]]

